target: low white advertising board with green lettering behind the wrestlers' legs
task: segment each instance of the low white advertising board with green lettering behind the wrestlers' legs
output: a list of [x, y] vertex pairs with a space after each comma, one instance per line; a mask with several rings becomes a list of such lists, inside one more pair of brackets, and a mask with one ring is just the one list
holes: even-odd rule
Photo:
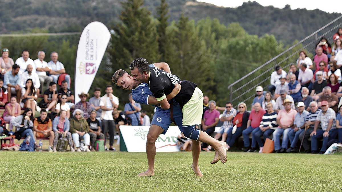
[[[149, 126], [120, 126], [120, 134], [128, 152], [146, 152], [146, 136]], [[161, 134], [156, 141], [157, 152], [179, 151], [176, 145], [181, 134], [177, 126], [170, 126], [165, 135]], [[122, 141], [120, 141], [122, 143]], [[120, 144], [121, 145], [121, 144]], [[121, 147], [120, 147], [121, 148]]]

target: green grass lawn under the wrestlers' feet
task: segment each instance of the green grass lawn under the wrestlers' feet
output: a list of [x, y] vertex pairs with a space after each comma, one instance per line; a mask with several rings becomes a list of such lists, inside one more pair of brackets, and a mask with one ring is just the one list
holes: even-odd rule
[[203, 178], [191, 152], [157, 153], [154, 177], [145, 153], [0, 151], [0, 191], [341, 191], [342, 155], [228, 152], [211, 165], [201, 152]]

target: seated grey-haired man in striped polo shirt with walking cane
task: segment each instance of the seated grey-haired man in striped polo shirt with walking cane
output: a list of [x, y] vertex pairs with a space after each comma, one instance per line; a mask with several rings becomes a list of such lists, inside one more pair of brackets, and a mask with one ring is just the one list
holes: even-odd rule
[[303, 148], [305, 150], [305, 153], [310, 153], [310, 142], [308, 139], [310, 138], [310, 134], [314, 131], [314, 125], [316, 122], [317, 115], [319, 111], [321, 111], [320, 109], [318, 109], [318, 104], [316, 101], [312, 101], [310, 103], [310, 109], [311, 112], [307, 115], [305, 119], [306, 131], [299, 134], [299, 139], [301, 140], [301, 142], [303, 142]]

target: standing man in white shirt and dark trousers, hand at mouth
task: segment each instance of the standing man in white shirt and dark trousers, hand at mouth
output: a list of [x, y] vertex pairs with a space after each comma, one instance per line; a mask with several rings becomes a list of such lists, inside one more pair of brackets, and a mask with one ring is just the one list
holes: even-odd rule
[[[114, 109], [117, 109], [119, 107], [119, 99], [114, 96], [113, 94], [113, 88], [110, 85], [107, 85], [106, 87], [106, 94], [101, 97], [102, 103], [100, 103], [101, 106], [101, 119], [102, 119], [102, 131], [103, 134], [106, 135], [106, 133], [109, 131], [109, 150], [115, 151], [116, 149], [113, 147], [114, 145], [114, 118], [112, 115], [112, 112]], [[106, 137], [105, 137], [105, 146], [106, 146]], [[107, 149], [105, 147], [105, 149]]]

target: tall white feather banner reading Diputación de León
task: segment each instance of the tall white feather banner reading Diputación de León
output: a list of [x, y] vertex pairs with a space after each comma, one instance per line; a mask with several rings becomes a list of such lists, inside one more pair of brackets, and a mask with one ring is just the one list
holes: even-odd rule
[[110, 39], [108, 28], [101, 22], [91, 22], [82, 34], [77, 47], [75, 66], [75, 103], [82, 91], [88, 93]]

